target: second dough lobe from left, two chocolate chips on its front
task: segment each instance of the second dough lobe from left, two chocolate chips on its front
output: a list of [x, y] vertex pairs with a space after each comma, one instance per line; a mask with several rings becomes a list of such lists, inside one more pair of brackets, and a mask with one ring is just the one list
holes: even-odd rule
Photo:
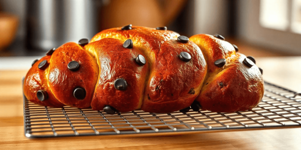
[[[79, 69], [71, 71], [67, 65], [77, 61]], [[97, 82], [98, 64], [91, 55], [76, 43], [66, 43], [57, 48], [50, 59], [48, 81], [54, 96], [65, 105], [90, 107]], [[79, 100], [73, 96], [75, 88], [85, 89], [86, 96]]]

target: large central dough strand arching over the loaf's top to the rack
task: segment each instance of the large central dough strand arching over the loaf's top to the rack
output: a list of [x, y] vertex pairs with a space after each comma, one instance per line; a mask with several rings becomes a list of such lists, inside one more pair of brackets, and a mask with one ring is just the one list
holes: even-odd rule
[[[206, 61], [199, 47], [192, 42], [178, 42], [178, 36], [172, 31], [144, 27], [132, 27], [132, 30], [113, 28], [98, 33], [91, 41], [132, 39], [150, 64], [141, 109], [167, 113], [189, 107], [199, 94], [206, 75]], [[188, 52], [191, 60], [182, 61], [179, 58], [181, 52]]]

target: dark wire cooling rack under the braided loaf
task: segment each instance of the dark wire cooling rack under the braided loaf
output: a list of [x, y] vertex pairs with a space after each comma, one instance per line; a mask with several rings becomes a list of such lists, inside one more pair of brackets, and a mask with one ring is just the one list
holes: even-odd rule
[[24, 132], [29, 138], [285, 127], [301, 127], [301, 94], [267, 82], [259, 105], [236, 113], [191, 110], [166, 114], [135, 110], [109, 115], [68, 106], [43, 107], [24, 96]]

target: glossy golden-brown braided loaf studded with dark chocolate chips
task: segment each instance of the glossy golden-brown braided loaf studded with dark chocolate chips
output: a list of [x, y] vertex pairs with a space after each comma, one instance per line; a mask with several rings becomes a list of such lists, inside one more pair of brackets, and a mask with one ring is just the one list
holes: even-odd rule
[[220, 35], [128, 25], [51, 49], [33, 62], [23, 90], [39, 105], [108, 114], [250, 110], [263, 97], [262, 70], [237, 51]]

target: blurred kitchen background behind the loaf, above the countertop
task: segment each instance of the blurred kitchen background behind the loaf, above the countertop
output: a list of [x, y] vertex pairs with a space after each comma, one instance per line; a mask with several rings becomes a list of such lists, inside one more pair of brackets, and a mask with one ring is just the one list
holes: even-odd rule
[[301, 0], [0, 0], [0, 62], [127, 24], [218, 33], [255, 57], [301, 55]]

